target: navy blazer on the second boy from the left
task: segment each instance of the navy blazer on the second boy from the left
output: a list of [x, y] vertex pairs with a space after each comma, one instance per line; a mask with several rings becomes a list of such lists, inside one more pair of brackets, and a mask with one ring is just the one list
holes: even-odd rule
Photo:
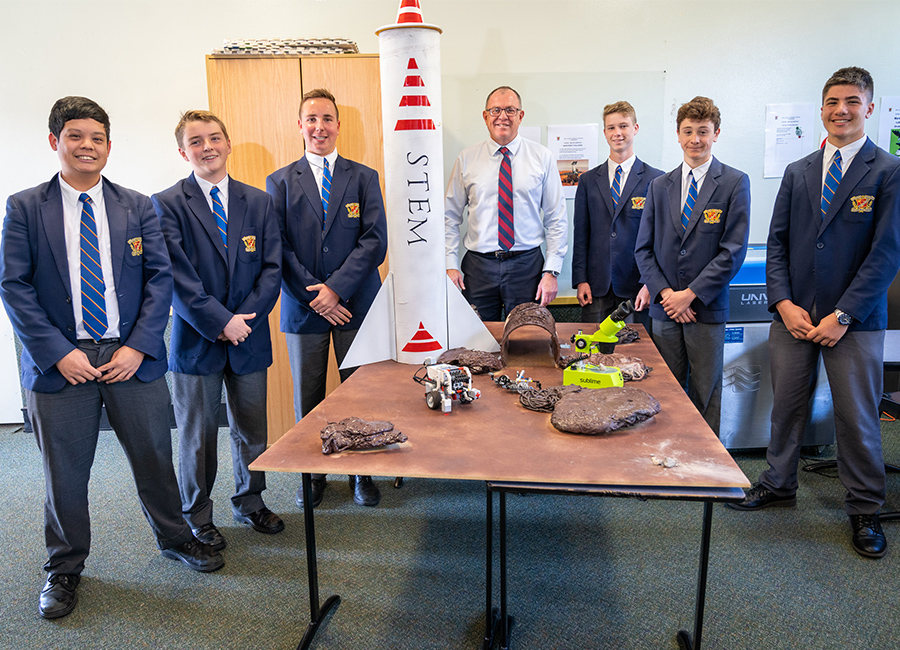
[[[272, 199], [228, 180], [228, 248], [194, 175], [154, 194], [175, 292], [169, 370], [189, 375], [238, 375], [272, 365], [269, 312], [281, 286], [281, 233]], [[238, 345], [218, 336], [235, 314], [252, 314], [252, 332]]]

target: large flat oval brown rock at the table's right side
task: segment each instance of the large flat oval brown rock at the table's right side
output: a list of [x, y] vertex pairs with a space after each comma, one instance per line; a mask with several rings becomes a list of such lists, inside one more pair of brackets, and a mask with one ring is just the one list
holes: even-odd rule
[[564, 395], [550, 422], [560, 431], [597, 435], [649, 420], [659, 411], [659, 401], [639, 388], [586, 389]]

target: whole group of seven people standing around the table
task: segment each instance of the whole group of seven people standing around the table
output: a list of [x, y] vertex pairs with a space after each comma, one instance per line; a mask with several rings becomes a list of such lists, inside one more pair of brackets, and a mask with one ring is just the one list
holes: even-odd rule
[[[865, 70], [837, 71], [822, 94], [824, 148], [785, 172], [766, 268], [775, 313], [769, 469], [732, 505], [796, 502], [821, 354], [853, 547], [881, 557], [878, 404], [886, 294], [900, 266], [900, 161], [865, 136], [873, 92]], [[249, 469], [266, 445], [269, 313], [280, 295], [299, 420], [324, 399], [329, 347], [340, 364], [378, 292], [387, 249], [378, 174], [338, 155], [334, 96], [310, 91], [299, 113], [306, 153], [272, 173], [265, 192], [229, 177], [222, 120], [184, 113], [175, 138], [192, 173], [147, 198], [101, 176], [110, 153], [106, 112], [84, 97], [54, 104], [49, 141], [60, 172], [9, 197], [0, 241], [0, 297], [22, 342], [22, 384], [44, 466], [41, 616], [65, 616], [77, 603], [102, 406], [164, 557], [203, 572], [224, 564], [226, 540], [210, 497], [223, 386], [232, 516], [261, 533], [284, 529], [263, 502], [264, 474]], [[483, 111], [490, 137], [460, 153], [446, 192], [447, 273], [485, 320], [523, 302], [549, 304], [568, 247], [559, 172], [546, 147], [518, 135], [524, 114], [514, 89], [492, 91]], [[665, 362], [718, 431], [728, 285], [747, 248], [749, 179], [713, 157], [721, 117], [708, 98], [679, 109], [684, 162], [667, 174], [635, 156], [630, 104], [610, 104], [603, 121], [609, 158], [582, 175], [575, 198], [572, 283], [583, 319], [597, 322], [633, 300]], [[349, 481], [356, 503], [378, 503], [371, 477]], [[326, 485], [325, 476], [313, 477], [310, 507]], [[300, 490], [296, 501], [304, 507]]]

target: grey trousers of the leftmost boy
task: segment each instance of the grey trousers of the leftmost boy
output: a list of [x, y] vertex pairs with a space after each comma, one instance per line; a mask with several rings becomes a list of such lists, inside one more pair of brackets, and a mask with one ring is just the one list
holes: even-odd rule
[[[99, 367], [120, 344], [79, 341], [78, 347]], [[179, 507], [164, 377], [149, 383], [132, 377], [116, 384], [66, 384], [57, 393], [26, 390], [25, 401], [44, 464], [45, 571], [80, 574], [90, 553], [88, 481], [104, 404], [157, 546], [170, 548], [193, 538]]]

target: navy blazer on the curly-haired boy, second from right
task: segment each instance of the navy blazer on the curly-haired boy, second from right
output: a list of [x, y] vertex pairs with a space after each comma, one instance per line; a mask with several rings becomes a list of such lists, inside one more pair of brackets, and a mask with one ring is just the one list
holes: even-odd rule
[[687, 229], [681, 208], [679, 165], [650, 183], [638, 233], [635, 257], [650, 291], [650, 316], [669, 320], [660, 292], [690, 287], [698, 322], [727, 322], [728, 284], [747, 254], [750, 179], [713, 157]]

